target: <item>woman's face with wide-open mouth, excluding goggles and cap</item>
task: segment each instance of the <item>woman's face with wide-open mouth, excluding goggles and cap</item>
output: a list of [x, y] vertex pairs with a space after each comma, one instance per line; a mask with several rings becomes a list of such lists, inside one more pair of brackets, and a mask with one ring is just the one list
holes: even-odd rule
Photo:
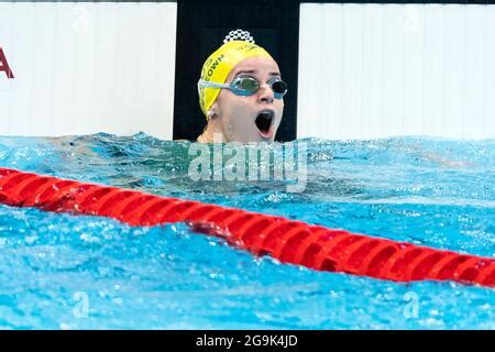
[[239, 63], [227, 77], [230, 84], [238, 75], [254, 77], [262, 87], [252, 96], [237, 96], [229, 89], [221, 89], [212, 106], [219, 119], [223, 141], [273, 142], [282, 121], [284, 100], [275, 99], [266, 84], [273, 77], [280, 77], [277, 63], [267, 57], [250, 57]]

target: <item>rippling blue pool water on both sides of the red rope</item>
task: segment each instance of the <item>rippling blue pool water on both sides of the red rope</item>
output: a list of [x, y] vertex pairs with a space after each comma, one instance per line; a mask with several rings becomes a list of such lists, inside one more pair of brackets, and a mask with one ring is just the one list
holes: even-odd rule
[[[0, 167], [495, 255], [495, 141], [302, 140], [307, 186], [193, 182], [190, 143], [0, 138]], [[0, 206], [1, 329], [495, 329], [495, 290], [279, 264], [193, 233]]]

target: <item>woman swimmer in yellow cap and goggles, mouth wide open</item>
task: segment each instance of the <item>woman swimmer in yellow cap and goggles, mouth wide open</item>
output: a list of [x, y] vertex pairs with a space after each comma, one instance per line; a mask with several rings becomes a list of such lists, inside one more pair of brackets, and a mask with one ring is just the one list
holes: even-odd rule
[[273, 57], [249, 32], [232, 31], [202, 66], [199, 106], [207, 125], [198, 142], [273, 142], [287, 85]]

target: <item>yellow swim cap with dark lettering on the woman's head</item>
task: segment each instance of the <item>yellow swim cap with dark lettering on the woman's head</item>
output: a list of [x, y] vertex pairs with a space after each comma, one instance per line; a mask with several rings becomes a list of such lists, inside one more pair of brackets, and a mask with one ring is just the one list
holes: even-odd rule
[[[245, 41], [230, 41], [220, 46], [202, 65], [201, 79], [224, 84], [227, 76], [240, 62], [253, 56], [272, 56], [260, 45]], [[208, 110], [220, 94], [220, 88], [198, 87], [199, 106], [207, 117]]]

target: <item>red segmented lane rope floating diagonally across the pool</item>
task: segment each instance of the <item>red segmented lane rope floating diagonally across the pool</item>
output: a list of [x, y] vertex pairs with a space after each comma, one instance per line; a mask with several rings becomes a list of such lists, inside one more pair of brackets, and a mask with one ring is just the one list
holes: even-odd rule
[[185, 221], [257, 255], [314, 270], [395, 282], [455, 280], [495, 286], [495, 258], [440, 251], [199, 201], [147, 195], [0, 168], [0, 202], [103, 216], [130, 226]]

